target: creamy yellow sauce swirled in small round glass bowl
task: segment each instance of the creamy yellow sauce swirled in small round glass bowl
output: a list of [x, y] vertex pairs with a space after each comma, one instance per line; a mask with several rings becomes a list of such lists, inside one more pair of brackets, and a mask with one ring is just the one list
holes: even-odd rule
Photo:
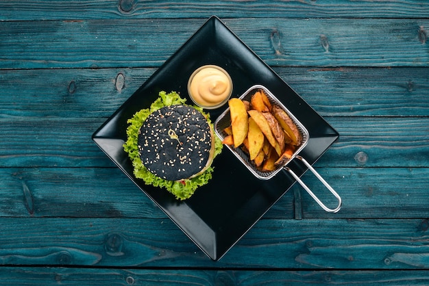
[[215, 107], [230, 97], [232, 81], [222, 68], [202, 66], [191, 77], [188, 92], [197, 105]]

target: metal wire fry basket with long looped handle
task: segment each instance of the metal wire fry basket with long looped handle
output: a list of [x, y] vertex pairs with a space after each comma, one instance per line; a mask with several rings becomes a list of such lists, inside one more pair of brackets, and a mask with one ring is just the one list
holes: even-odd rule
[[[252, 86], [242, 96], [240, 96], [239, 99], [250, 102], [251, 98], [252, 98], [252, 95], [256, 91], [258, 91], [258, 90], [262, 90], [263, 92], [265, 92], [265, 94], [267, 95], [270, 103], [272, 105], [277, 105], [278, 107], [280, 107], [281, 109], [283, 109], [284, 112], [286, 112], [286, 114], [291, 118], [291, 120], [295, 123], [295, 125], [296, 125], [296, 127], [297, 127], [297, 129], [298, 129], [298, 131], [300, 133], [300, 135], [302, 136], [301, 143], [299, 144], [299, 146], [297, 146], [295, 148], [295, 151], [294, 151], [293, 155], [291, 156], [291, 158], [289, 160], [285, 161], [284, 164], [282, 164], [281, 166], [278, 166], [277, 168], [275, 168], [275, 170], [270, 171], [270, 172], [263, 172], [262, 170], [258, 169], [256, 167], [256, 165], [250, 160], [249, 155], [247, 153], [245, 153], [242, 150], [242, 148], [240, 148], [240, 147], [234, 148], [233, 146], [230, 146], [230, 145], [226, 145], [226, 146], [238, 158], [238, 160], [241, 161], [241, 163], [244, 166], [246, 166], [247, 169], [250, 172], [252, 172], [252, 174], [254, 174], [254, 176], [256, 178], [261, 179], [261, 180], [268, 180], [268, 179], [271, 179], [272, 177], [274, 177], [275, 174], [277, 174], [281, 170], [286, 170], [286, 171], [288, 171], [292, 175], [292, 177], [300, 185], [302, 185], [302, 187], [304, 187], [304, 190], [306, 190], [308, 192], [308, 194], [310, 194], [310, 196], [312, 196], [312, 198], [320, 205], [320, 207], [322, 209], [324, 209], [325, 211], [328, 211], [328, 212], [336, 213], [341, 208], [341, 197], [323, 179], [323, 177], [321, 177], [321, 175], [314, 168], [312, 168], [312, 166], [308, 163], [308, 161], [306, 161], [306, 159], [304, 159], [302, 156], [299, 156], [299, 152], [301, 152], [302, 149], [306, 146], [306, 144], [308, 143], [308, 139], [310, 137], [310, 135], [308, 134], [308, 131], [307, 131], [306, 127], [304, 127], [304, 125], [302, 125], [302, 123], [299, 122], [299, 120], [297, 120], [297, 118], [267, 88], [265, 88], [265, 86], [260, 86], [260, 85]], [[228, 108], [215, 121], [215, 132], [219, 136], [219, 138], [221, 138], [221, 140], [223, 140], [228, 135], [225, 132], [225, 128], [229, 127], [230, 125], [231, 125], [231, 117], [230, 117], [230, 109]], [[299, 159], [300, 161], [302, 161], [302, 163], [308, 168], [308, 170], [310, 170], [313, 174], [315, 174], [315, 176], [317, 177], [317, 179], [319, 179], [319, 181], [321, 181], [321, 183], [323, 183], [323, 185], [325, 185], [325, 187], [328, 188], [328, 190], [335, 196], [335, 198], [339, 202], [338, 206], [336, 208], [330, 209], [330, 208], [326, 207], [326, 205], [324, 205], [321, 202], [321, 200], [319, 200], [319, 198], [317, 198], [317, 196], [297, 176], [297, 174], [295, 174], [295, 172], [293, 172], [293, 170], [291, 170], [291, 168], [287, 167], [287, 164], [289, 164], [289, 162], [292, 161], [295, 158]]]

